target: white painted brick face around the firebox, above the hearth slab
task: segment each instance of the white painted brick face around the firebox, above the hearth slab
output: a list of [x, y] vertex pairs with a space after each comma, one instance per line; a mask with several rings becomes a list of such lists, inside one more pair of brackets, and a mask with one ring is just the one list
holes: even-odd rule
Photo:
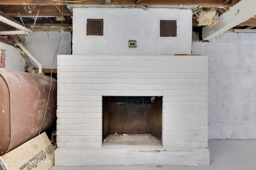
[[58, 147], [102, 146], [102, 96], [163, 96], [162, 145], [207, 147], [207, 61], [58, 55]]

